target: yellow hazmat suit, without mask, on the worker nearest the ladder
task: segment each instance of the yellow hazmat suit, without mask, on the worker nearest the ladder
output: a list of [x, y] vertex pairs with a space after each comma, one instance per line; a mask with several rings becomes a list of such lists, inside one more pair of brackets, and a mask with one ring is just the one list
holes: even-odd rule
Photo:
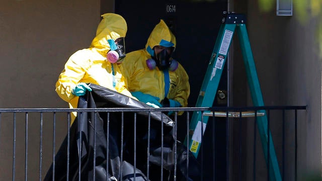
[[[167, 95], [164, 72], [157, 67], [150, 70], [146, 64], [146, 60], [153, 56], [153, 47], [156, 45], [176, 47], [176, 37], [163, 20], [160, 20], [152, 30], [145, 49], [127, 53], [120, 68], [127, 79], [130, 92], [149, 94], [159, 98], [158, 102], [161, 102]], [[175, 71], [169, 70], [169, 77], [170, 80], [167, 81], [170, 81], [170, 88], [167, 98], [179, 102], [182, 107], [187, 107], [190, 94], [188, 74], [179, 63]]]

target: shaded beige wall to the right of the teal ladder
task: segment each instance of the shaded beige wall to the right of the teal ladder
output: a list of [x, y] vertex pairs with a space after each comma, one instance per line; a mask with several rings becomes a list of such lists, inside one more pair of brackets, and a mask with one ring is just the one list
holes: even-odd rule
[[[297, 117], [297, 177], [303, 180], [308, 174], [321, 175], [321, 58], [315, 36], [316, 20], [307, 19], [301, 24], [296, 11], [292, 17], [281, 17], [276, 16], [275, 9], [262, 13], [254, 7], [258, 7], [257, 1], [250, 0], [248, 29], [264, 103], [266, 106], [307, 105], [307, 111], [299, 111]], [[248, 92], [249, 106], [251, 101]], [[274, 127], [278, 123], [273, 121], [271, 131], [281, 160], [282, 129]], [[286, 139], [286, 180], [295, 177], [295, 140], [291, 138], [294, 129], [294, 122], [286, 122], [286, 134], [290, 136]]]

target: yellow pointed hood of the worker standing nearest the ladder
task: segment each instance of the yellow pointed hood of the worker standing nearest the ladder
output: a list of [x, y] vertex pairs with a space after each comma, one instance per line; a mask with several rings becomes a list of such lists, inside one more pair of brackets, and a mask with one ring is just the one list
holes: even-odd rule
[[146, 51], [151, 56], [154, 55], [153, 47], [156, 45], [176, 48], [176, 37], [163, 20], [154, 27], [145, 45]]

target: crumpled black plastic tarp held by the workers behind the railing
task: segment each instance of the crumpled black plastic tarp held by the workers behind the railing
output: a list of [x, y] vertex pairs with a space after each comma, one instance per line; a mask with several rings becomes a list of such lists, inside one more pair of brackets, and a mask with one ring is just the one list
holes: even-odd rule
[[[90, 86], [93, 91], [79, 97], [78, 108], [151, 108], [105, 87]], [[55, 156], [54, 180], [67, 180], [67, 174], [68, 180], [78, 180], [79, 175], [81, 180], [94, 180], [94, 176], [95, 180], [133, 180], [134, 165], [137, 181], [147, 180], [147, 167], [149, 180], [160, 180], [161, 171], [163, 180], [173, 180], [175, 122], [161, 112], [150, 112], [149, 150], [148, 123], [148, 112], [78, 112], [70, 127], [69, 155], [66, 136]], [[81, 153], [81, 166], [78, 153]], [[177, 142], [176, 179], [198, 180], [200, 171], [192, 154], [189, 154], [189, 178], [186, 178], [187, 155], [186, 148]], [[44, 180], [53, 180], [53, 164]]]

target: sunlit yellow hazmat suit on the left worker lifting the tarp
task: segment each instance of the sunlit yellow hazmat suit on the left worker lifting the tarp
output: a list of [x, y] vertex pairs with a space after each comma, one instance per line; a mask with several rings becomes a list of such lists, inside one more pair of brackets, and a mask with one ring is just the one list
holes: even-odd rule
[[[103, 20], [98, 25], [96, 37], [90, 48], [72, 54], [56, 82], [55, 91], [61, 99], [69, 103], [69, 108], [77, 108], [78, 97], [71, 92], [80, 82], [101, 85], [133, 98], [125, 87], [125, 78], [120, 73], [118, 65], [106, 59], [110, 50], [107, 40], [115, 41], [117, 38], [125, 37], [126, 21], [122, 16], [113, 13], [104, 14], [102, 17]], [[73, 113], [73, 116], [75, 117], [76, 113]]]

